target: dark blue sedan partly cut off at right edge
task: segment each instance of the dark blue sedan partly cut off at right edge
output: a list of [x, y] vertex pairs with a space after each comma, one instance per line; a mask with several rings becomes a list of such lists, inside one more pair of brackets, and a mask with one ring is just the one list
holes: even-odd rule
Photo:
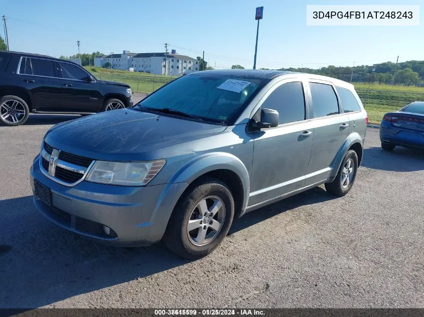
[[396, 145], [424, 149], [424, 102], [413, 102], [399, 111], [386, 113], [380, 127], [381, 148]]

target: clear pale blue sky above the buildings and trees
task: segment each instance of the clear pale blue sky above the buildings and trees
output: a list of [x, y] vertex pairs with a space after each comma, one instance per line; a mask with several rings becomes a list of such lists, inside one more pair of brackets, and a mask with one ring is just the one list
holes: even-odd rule
[[[204, 0], [0, 0], [12, 51], [54, 57], [100, 51], [165, 52], [212, 67], [253, 67], [257, 22], [263, 6], [256, 68], [319, 68], [424, 60], [420, 26], [307, 26], [306, 5], [419, 5], [420, 1]], [[420, 16], [424, 17], [421, 4]], [[4, 28], [0, 35], [5, 38]]]

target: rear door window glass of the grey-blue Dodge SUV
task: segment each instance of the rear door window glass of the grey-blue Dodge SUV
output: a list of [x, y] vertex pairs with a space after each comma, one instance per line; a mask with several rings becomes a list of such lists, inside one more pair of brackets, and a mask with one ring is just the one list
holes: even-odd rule
[[309, 83], [311, 87], [314, 118], [331, 116], [339, 113], [339, 104], [333, 87], [326, 84]]

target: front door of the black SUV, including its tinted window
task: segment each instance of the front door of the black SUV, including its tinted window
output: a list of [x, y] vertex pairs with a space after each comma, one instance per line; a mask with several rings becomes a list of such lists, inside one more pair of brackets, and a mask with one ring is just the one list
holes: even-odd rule
[[88, 81], [90, 74], [77, 65], [58, 64], [62, 73], [62, 111], [99, 112], [102, 105], [97, 81]]

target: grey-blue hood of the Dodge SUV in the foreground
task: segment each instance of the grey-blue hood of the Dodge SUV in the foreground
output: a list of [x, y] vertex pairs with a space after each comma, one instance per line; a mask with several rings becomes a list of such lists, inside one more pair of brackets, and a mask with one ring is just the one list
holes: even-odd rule
[[158, 159], [154, 150], [225, 129], [127, 108], [60, 123], [46, 133], [45, 141], [59, 150], [92, 159], [143, 161]]

